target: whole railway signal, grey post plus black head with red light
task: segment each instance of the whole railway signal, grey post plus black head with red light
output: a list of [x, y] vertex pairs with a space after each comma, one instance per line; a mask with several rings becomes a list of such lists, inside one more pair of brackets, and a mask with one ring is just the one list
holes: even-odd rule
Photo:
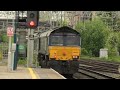
[[27, 45], [27, 67], [33, 66], [34, 51], [34, 29], [38, 26], [39, 11], [27, 11], [28, 45]]

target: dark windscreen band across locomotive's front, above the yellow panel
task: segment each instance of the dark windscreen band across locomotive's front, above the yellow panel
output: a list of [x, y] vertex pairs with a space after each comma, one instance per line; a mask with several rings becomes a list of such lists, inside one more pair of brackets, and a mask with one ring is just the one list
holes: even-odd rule
[[74, 33], [54, 33], [49, 41], [51, 46], [80, 46], [80, 36]]

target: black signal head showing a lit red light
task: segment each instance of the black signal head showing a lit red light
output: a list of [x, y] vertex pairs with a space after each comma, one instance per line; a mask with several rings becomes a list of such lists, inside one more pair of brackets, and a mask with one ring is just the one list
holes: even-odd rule
[[27, 27], [37, 28], [39, 21], [39, 11], [27, 11]]

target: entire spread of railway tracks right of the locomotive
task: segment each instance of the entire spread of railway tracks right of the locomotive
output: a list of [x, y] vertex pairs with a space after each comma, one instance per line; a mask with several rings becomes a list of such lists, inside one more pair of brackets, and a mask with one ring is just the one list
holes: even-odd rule
[[80, 60], [74, 79], [120, 79], [120, 63], [100, 60]]

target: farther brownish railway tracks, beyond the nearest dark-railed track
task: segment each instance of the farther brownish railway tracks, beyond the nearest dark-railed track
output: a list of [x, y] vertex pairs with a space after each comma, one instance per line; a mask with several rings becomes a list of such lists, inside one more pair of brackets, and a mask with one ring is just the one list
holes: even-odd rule
[[101, 60], [80, 60], [79, 67], [95, 71], [120, 73], [120, 63]]

